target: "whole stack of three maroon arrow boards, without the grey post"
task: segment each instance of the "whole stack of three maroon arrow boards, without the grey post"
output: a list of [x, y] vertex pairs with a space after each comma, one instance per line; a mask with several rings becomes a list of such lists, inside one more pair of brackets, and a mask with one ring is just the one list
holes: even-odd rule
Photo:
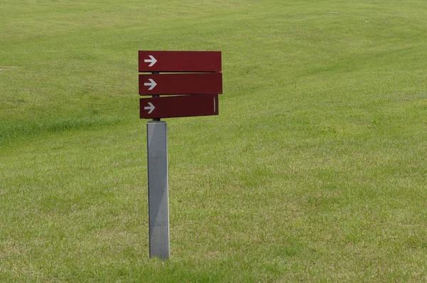
[[140, 118], [218, 114], [221, 51], [139, 51], [138, 70], [151, 73], [139, 75], [139, 95], [154, 96], [139, 100]]

